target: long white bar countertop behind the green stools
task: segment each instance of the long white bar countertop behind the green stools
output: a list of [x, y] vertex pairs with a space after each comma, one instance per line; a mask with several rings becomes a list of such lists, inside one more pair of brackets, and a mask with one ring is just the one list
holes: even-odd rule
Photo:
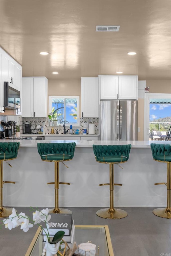
[[[37, 147], [37, 140], [10, 140], [8, 142], [19, 141], [21, 147]], [[7, 140], [1, 140], [7, 142]], [[72, 140], [40, 140], [38, 143], [64, 143], [73, 142]], [[150, 148], [150, 143], [169, 144], [171, 141], [75, 141], [76, 148], [92, 148], [92, 145], [123, 145], [131, 144], [132, 148]]]

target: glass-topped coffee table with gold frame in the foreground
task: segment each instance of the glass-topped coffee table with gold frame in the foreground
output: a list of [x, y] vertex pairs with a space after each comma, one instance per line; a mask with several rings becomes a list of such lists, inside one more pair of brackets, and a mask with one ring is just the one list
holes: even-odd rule
[[[45, 243], [42, 229], [39, 227], [25, 256], [40, 256]], [[96, 255], [114, 256], [109, 228], [105, 226], [78, 226], [75, 225], [75, 241], [77, 245], [91, 241], [96, 245]], [[99, 250], [98, 250], [99, 246]], [[78, 253], [78, 250], [75, 252]]]

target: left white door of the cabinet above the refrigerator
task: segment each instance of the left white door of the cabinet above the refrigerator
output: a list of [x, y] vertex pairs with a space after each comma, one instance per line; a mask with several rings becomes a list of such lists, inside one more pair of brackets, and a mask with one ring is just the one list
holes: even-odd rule
[[99, 76], [100, 99], [116, 100], [118, 94], [118, 76]]

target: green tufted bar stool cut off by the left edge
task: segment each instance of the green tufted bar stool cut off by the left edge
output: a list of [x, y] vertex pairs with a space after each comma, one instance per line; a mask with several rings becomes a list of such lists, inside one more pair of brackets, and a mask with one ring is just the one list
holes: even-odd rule
[[20, 142], [0, 142], [0, 218], [8, 217], [12, 213], [12, 208], [3, 207], [3, 184], [15, 184], [13, 181], [3, 181], [3, 161], [17, 158], [19, 146]]

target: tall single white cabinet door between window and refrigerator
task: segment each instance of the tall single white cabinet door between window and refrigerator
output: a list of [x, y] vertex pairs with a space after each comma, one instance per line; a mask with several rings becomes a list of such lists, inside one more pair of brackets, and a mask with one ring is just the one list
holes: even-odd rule
[[99, 79], [81, 77], [81, 116], [99, 117]]

